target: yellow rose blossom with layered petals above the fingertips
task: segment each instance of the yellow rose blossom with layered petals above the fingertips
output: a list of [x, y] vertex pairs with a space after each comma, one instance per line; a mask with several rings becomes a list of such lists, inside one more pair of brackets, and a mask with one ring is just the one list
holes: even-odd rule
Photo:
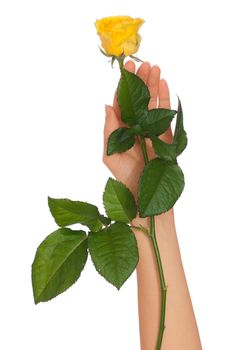
[[138, 30], [144, 20], [129, 16], [111, 16], [96, 20], [95, 26], [102, 47], [108, 55], [130, 56], [139, 48], [141, 37]]

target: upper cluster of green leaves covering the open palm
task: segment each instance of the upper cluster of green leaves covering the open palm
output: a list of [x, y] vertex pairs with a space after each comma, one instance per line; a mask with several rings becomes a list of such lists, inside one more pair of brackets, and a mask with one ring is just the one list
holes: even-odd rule
[[[129, 150], [137, 139], [149, 138], [156, 158], [146, 164], [138, 184], [138, 207], [141, 217], [161, 214], [173, 207], [184, 188], [184, 175], [177, 157], [187, 145], [183, 126], [183, 112], [178, 98], [178, 110], [148, 109], [150, 93], [136, 74], [121, 69], [118, 85], [118, 102], [122, 121], [128, 127], [115, 130], [108, 139], [107, 154]], [[171, 144], [159, 136], [169, 127], [176, 115]]]

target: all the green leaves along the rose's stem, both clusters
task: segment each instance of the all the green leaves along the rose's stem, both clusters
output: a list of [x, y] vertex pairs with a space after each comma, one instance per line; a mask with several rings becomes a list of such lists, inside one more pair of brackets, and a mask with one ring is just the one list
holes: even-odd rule
[[[184, 175], [177, 164], [187, 145], [183, 113], [156, 108], [148, 110], [149, 90], [135, 74], [121, 69], [118, 101], [123, 122], [128, 127], [115, 130], [108, 139], [107, 154], [125, 152], [136, 138], [152, 141], [156, 158], [150, 160], [138, 184], [138, 210], [141, 217], [169, 210], [184, 188]], [[173, 143], [159, 136], [177, 115]], [[48, 197], [48, 205], [60, 227], [39, 245], [32, 264], [35, 303], [48, 301], [67, 290], [79, 278], [88, 253], [96, 270], [120, 289], [134, 271], [138, 260], [135, 236], [128, 225], [137, 214], [137, 206], [128, 188], [109, 178], [103, 194], [106, 215], [92, 204]], [[73, 230], [67, 226], [81, 224], [88, 228]]]

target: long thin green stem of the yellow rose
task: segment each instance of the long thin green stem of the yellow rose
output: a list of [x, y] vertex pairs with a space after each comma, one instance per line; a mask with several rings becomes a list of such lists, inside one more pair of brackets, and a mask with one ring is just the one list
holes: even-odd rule
[[[141, 137], [141, 149], [143, 153], [143, 158], [145, 165], [148, 164], [149, 158], [147, 154], [147, 148], [146, 148], [146, 142], [144, 137]], [[155, 217], [150, 217], [150, 238], [152, 241], [152, 245], [155, 252], [155, 257], [157, 261], [158, 266], [158, 272], [159, 272], [159, 279], [160, 279], [160, 289], [161, 289], [161, 310], [160, 310], [160, 325], [159, 325], [159, 334], [158, 339], [156, 343], [155, 350], [160, 350], [163, 340], [163, 333], [165, 329], [165, 313], [166, 313], [166, 294], [167, 294], [167, 286], [165, 283], [164, 273], [163, 273], [163, 267], [162, 267], [162, 261], [159, 253], [159, 247], [156, 240], [156, 234], [155, 234]]]

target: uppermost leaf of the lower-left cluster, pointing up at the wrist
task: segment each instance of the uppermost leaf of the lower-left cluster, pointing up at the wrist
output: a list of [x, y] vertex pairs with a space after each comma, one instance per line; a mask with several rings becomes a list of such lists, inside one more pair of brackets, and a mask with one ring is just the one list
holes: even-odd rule
[[114, 221], [128, 223], [137, 214], [133, 194], [124, 184], [112, 178], [109, 178], [106, 183], [103, 203], [107, 215]]

